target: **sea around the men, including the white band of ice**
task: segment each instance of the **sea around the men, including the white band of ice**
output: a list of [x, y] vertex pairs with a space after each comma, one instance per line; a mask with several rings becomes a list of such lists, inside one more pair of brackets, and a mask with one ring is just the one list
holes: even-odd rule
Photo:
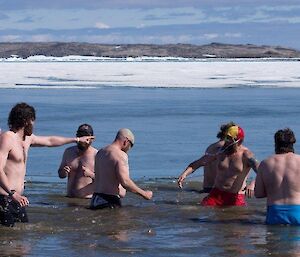
[[[93, 144], [101, 148], [119, 128], [128, 127], [136, 135], [129, 152], [131, 177], [154, 192], [151, 201], [128, 193], [120, 210], [90, 211], [88, 200], [64, 197], [66, 181], [57, 169], [67, 146], [31, 148], [25, 188], [30, 223], [0, 227], [3, 255], [297, 256], [300, 230], [264, 225], [264, 199], [249, 199], [243, 208], [204, 208], [198, 205], [204, 195], [197, 192], [202, 169], [183, 190], [176, 178], [217, 140], [219, 126], [228, 121], [244, 128], [244, 144], [259, 160], [274, 152], [278, 129], [290, 127], [297, 136], [300, 63], [175, 64], [0, 63], [2, 130], [11, 107], [21, 101], [36, 108], [37, 135], [75, 136], [81, 123], [89, 123]], [[151, 84], [157, 73], [163, 77], [155, 81], [161, 78], [165, 86]], [[214, 73], [222, 76], [216, 79]], [[181, 86], [174, 88], [176, 76]], [[220, 87], [222, 81], [227, 86]]]

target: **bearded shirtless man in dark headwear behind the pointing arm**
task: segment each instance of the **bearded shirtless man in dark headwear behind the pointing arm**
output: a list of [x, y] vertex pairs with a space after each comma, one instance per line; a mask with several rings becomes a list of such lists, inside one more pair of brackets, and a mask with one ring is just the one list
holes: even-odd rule
[[[76, 137], [93, 136], [93, 128], [89, 124], [78, 127]], [[78, 143], [64, 152], [58, 175], [60, 178], [68, 176], [67, 196], [91, 198], [94, 193], [95, 178], [94, 164], [97, 150], [89, 144]]]

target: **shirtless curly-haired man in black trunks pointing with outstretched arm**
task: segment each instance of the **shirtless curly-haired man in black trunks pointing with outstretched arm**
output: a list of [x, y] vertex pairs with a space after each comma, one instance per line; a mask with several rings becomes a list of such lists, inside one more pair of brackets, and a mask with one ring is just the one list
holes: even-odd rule
[[23, 195], [26, 162], [30, 146], [61, 146], [89, 143], [94, 137], [66, 138], [36, 136], [33, 132], [35, 110], [26, 103], [15, 105], [8, 117], [10, 131], [0, 135], [0, 222], [14, 226], [15, 221], [28, 222]]

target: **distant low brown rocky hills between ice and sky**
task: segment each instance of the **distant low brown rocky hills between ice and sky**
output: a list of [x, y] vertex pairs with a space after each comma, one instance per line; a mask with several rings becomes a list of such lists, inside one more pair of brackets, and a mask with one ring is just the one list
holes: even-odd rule
[[18, 55], [27, 58], [45, 56], [98, 56], [98, 57], [186, 57], [186, 58], [300, 58], [300, 51], [279, 46], [230, 45], [212, 43], [209, 45], [189, 44], [89, 44], [89, 43], [0, 43], [0, 57]]

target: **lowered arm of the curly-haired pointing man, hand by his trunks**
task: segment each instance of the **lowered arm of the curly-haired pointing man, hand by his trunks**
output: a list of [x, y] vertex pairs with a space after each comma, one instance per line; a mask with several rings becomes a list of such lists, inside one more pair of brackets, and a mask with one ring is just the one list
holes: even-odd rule
[[13, 191], [13, 188], [10, 188], [8, 178], [4, 172], [6, 166], [7, 158], [9, 152], [11, 151], [13, 142], [8, 134], [4, 134], [0, 139], [0, 186], [4, 191], [11, 197], [12, 200], [18, 202], [21, 206], [26, 206], [29, 204], [27, 197], [20, 195], [19, 192]]

